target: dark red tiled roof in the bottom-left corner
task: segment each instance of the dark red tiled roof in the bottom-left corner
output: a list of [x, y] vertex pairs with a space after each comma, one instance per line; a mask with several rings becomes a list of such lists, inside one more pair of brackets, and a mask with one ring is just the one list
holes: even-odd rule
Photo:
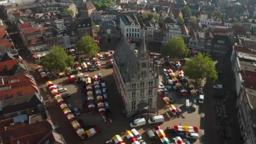
[[17, 140], [19, 139], [21, 139], [21, 141], [26, 140], [25, 143], [21, 142], [21, 144], [26, 144], [27, 142], [29, 142], [29, 144], [35, 144], [34, 141], [38, 140], [38, 137], [41, 134], [43, 135], [44, 132], [51, 132], [51, 124], [48, 120], [0, 131], [0, 137], [3, 144], [14, 144], [14, 142], [17, 144]]

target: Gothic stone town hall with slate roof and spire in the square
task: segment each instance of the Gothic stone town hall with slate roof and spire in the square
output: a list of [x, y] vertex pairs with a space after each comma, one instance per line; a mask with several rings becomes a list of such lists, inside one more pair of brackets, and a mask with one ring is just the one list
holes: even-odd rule
[[114, 53], [113, 71], [127, 117], [155, 112], [159, 73], [150, 63], [144, 33], [138, 50], [122, 37]]

